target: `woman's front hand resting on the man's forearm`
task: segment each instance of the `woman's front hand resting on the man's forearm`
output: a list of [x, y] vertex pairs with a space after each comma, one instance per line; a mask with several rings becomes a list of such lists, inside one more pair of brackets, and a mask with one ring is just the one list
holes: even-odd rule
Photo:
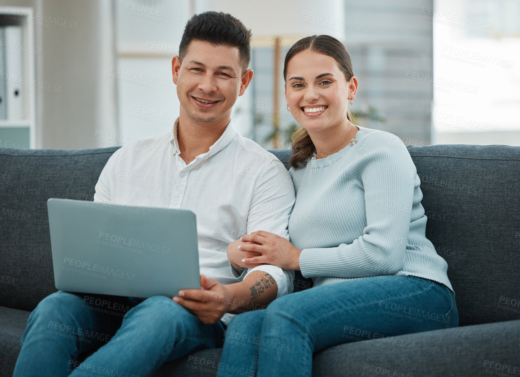
[[[242, 252], [254, 252], [258, 256], [244, 257], [242, 264], [270, 264], [285, 270], [300, 270], [300, 254], [302, 251], [283, 237], [274, 233], [258, 230], [250, 235], [242, 236], [242, 241], [254, 243], [241, 244]], [[238, 247], [238, 246], [237, 246]]]

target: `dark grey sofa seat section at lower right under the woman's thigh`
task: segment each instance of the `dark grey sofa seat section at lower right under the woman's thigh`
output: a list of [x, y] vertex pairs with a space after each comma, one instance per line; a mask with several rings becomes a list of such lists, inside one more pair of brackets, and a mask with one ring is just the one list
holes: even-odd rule
[[515, 376], [519, 343], [520, 321], [346, 343], [316, 353], [313, 376]]

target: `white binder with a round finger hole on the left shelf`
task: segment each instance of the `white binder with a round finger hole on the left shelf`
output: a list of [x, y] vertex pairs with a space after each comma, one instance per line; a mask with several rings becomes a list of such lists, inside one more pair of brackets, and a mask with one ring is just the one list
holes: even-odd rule
[[[20, 25], [4, 27], [6, 49], [5, 72], [7, 73], [6, 85], [6, 113], [8, 121], [20, 121], [25, 118], [22, 56], [22, 28]], [[6, 76], [6, 75], [4, 75]]]

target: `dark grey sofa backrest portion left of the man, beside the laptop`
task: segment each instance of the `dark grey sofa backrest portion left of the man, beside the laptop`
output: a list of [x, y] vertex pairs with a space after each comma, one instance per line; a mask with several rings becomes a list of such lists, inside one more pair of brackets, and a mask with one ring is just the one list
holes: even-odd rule
[[0, 305], [33, 310], [57, 291], [47, 199], [93, 201], [99, 174], [119, 148], [0, 148]]

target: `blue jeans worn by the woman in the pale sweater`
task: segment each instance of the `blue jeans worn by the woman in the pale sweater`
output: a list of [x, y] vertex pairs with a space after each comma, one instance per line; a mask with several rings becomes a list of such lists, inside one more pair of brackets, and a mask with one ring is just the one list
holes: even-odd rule
[[310, 377], [321, 349], [379, 337], [412, 347], [395, 336], [458, 324], [453, 293], [430, 280], [375, 276], [322, 285], [233, 317], [217, 376]]

